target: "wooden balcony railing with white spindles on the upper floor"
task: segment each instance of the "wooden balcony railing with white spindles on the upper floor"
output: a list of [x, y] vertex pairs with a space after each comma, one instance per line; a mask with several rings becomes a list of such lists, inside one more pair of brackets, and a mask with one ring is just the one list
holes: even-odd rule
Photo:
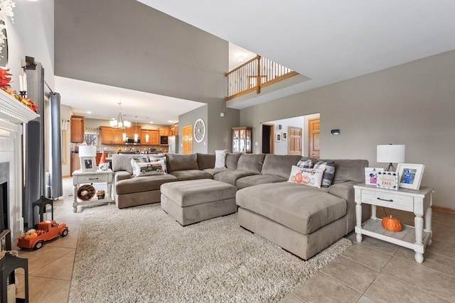
[[226, 72], [225, 75], [228, 83], [225, 99], [228, 101], [249, 92], [256, 91], [259, 94], [261, 87], [298, 75], [298, 73], [257, 55], [234, 70]]

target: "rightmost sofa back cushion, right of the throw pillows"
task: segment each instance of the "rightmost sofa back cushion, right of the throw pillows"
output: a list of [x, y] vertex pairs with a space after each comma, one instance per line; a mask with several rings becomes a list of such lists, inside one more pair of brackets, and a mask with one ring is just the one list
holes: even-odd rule
[[368, 160], [335, 160], [332, 184], [347, 181], [365, 182], [365, 167], [368, 167]]

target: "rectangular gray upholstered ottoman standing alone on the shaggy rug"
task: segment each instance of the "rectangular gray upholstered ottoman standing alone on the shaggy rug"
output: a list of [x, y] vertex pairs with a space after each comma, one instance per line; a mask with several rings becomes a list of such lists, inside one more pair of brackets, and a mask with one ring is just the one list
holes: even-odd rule
[[211, 179], [162, 184], [161, 208], [182, 226], [234, 214], [237, 187]]

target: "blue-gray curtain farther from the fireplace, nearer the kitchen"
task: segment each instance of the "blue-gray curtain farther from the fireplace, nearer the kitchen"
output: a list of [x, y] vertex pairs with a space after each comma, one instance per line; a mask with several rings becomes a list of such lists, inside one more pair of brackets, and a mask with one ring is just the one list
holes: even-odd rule
[[60, 94], [49, 94], [50, 102], [50, 136], [51, 150], [50, 158], [50, 187], [52, 198], [63, 196], [62, 184], [62, 153], [60, 143]]

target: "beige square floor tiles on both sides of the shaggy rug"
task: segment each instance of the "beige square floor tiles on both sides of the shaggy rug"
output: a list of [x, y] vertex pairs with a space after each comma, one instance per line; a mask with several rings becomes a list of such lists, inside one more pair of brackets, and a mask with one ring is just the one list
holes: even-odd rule
[[[54, 218], [70, 233], [45, 243], [40, 250], [20, 250], [28, 258], [30, 302], [68, 302], [75, 248], [83, 208], [73, 213], [71, 179], [64, 178], [64, 197], [54, 201]], [[378, 209], [378, 216], [381, 215]], [[414, 225], [412, 214], [387, 209], [404, 224]], [[433, 243], [424, 263], [414, 252], [368, 236], [362, 243], [355, 233], [353, 246], [316, 275], [287, 294], [281, 302], [455, 302], [455, 214], [433, 211]], [[17, 249], [17, 248], [16, 248]], [[23, 270], [16, 270], [18, 297], [23, 297]]]

